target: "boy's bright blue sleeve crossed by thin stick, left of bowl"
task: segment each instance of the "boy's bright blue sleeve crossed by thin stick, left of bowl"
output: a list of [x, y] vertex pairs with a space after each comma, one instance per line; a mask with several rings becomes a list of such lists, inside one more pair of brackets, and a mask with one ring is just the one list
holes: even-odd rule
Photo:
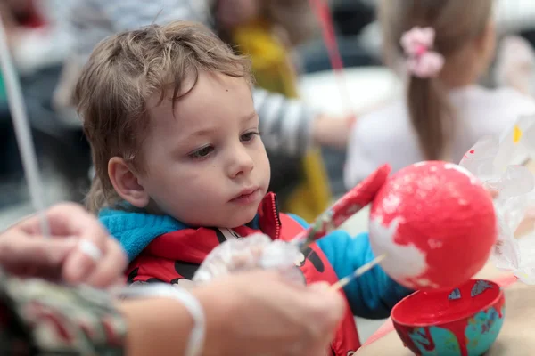
[[[317, 246], [323, 250], [339, 279], [375, 257], [367, 233], [352, 238], [345, 231], [333, 231], [318, 240]], [[387, 276], [380, 266], [351, 281], [344, 292], [353, 314], [368, 319], [387, 318], [391, 308], [412, 293]]]

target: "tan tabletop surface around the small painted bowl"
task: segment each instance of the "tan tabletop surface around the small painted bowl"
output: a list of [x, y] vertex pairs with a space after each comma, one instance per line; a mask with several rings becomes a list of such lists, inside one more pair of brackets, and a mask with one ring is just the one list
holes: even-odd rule
[[[477, 278], [503, 279], [508, 274], [498, 271], [490, 263]], [[526, 286], [516, 282], [506, 287], [506, 320], [498, 339], [485, 356], [531, 356], [535, 355], [535, 286]], [[386, 328], [386, 326], [385, 326]], [[373, 338], [374, 336], [372, 336]], [[403, 346], [395, 330], [365, 344], [356, 356], [412, 356], [410, 350]]]

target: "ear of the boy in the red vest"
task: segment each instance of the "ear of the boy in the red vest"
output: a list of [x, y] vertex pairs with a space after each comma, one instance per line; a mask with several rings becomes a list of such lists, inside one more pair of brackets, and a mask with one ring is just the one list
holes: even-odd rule
[[113, 189], [120, 198], [136, 207], [145, 207], [150, 197], [143, 186], [139, 184], [136, 174], [130, 170], [123, 158], [113, 157], [108, 162], [108, 175]]

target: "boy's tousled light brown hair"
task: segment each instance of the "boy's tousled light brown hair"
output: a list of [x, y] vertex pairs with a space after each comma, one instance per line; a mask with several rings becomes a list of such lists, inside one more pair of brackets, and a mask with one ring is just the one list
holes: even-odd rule
[[119, 202], [108, 176], [111, 158], [121, 157], [131, 169], [144, 172], [140, 149], [150, 128], [149, 98], [158, 95], [161, 103], [172, 90], [174, 106], [185, 95], [185, 81], [193, 76], [196, 82], [202, 71], [251, 83], [250, 62], [200, 24], [152, 25], [111, 36], [96, 46], [75, 92], [95, 165], [87, 197], [91, 211]]

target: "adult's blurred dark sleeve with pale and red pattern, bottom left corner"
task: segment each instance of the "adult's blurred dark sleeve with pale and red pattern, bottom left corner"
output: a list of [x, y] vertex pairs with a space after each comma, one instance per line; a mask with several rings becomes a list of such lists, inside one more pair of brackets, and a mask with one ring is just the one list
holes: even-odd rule
[[123, 354], [125, 320], [111, 295], [0, 271], [0, 355]]

